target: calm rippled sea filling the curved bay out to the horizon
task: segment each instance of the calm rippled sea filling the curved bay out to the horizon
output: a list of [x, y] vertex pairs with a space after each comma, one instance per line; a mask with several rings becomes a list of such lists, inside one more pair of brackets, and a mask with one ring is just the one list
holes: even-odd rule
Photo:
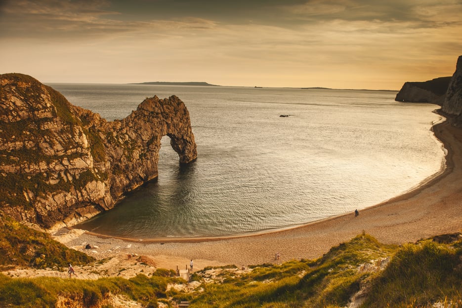
[[76, 226], [149, 240], [275, 231], [408, 192], [444, 167], [432, 104], [396, 91], [146, 84], [49, 84], [109, 121], [146, 97], [178, 96], [198, 157], [163, 137], [159, 177]]

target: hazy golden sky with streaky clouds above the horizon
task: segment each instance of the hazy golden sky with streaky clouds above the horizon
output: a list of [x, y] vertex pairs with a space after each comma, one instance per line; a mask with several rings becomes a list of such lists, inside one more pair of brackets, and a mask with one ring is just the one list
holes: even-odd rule
[[399, 90], [452, 76], [462, 0], [0, 0], [0, 74]]

